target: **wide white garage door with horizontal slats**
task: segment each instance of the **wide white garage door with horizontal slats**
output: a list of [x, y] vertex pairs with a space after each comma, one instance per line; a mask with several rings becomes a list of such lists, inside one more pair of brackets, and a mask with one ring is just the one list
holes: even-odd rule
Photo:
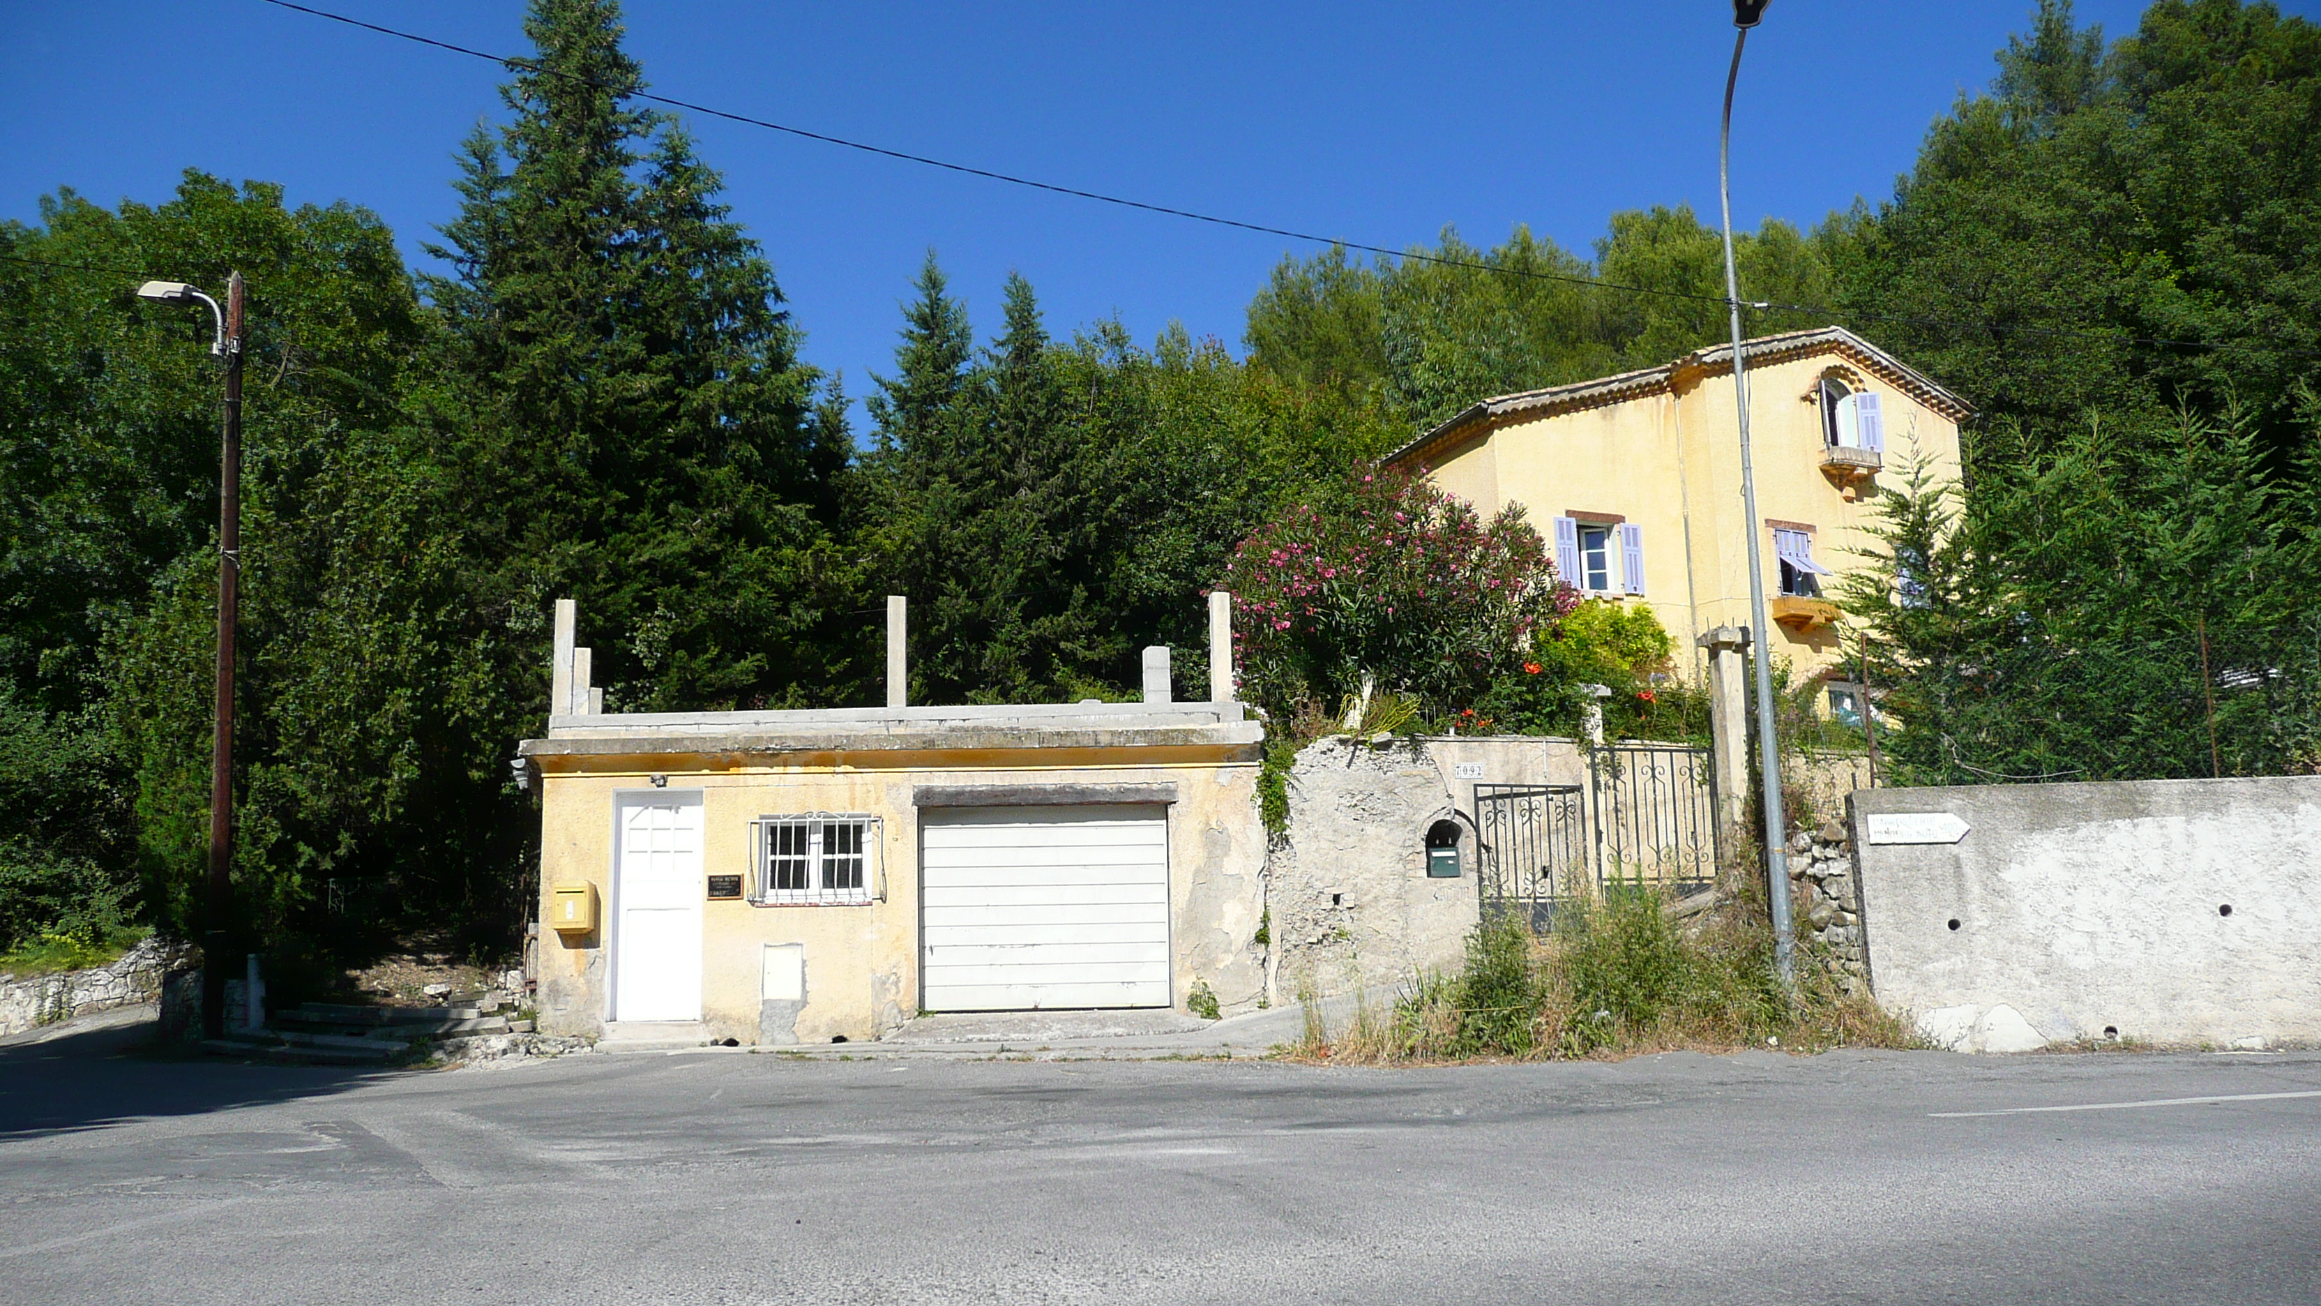
[[921, 1006], [1167, 1006], [1167, 809], [919, 813]]

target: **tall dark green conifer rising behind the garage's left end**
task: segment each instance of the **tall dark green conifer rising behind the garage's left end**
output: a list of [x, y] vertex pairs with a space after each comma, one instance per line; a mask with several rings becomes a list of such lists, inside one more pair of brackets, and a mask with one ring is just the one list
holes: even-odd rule
[[[620, 709], [824, 702], [861, 674], [829, 541], [843, 437], [773, 270], [668, 119], [613, 0], [536, 0], [538, 58], [478, 130], [422, 279], [446, 328], [429, 418], [455, 451], [478, 616], [532, 630], [580, 602]], [[508, 744], [545, 660], [511, 646]]]

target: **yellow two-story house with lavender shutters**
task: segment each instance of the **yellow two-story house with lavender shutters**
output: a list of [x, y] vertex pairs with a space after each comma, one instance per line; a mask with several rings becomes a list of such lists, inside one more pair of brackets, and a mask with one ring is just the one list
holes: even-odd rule
[[1755, 532], [1773, 655], [1799, 679], [1829, 681], [1829, 711], [1852, 718], [1859, 648], [1827, 595], [1873, 544], [1880, 476], [1915, 460], [1957, 481], [1959, 423], [1973, 409], [1843, 328], [1750, 339], [1745, 351], [1757, 521], [1741, 502], [1729, 344], [1483, 400], [1386, 460], [1425, 469], [1485, 516], [1520, 504], [1564, 581], [1650, 604], [1687, 648], [1713, 627], [1750, 625]]

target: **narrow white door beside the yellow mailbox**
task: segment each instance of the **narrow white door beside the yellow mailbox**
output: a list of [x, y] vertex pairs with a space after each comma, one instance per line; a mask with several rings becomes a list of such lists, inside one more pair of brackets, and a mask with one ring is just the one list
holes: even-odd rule
[[617, 809], [613, 1020], [701, 1020], [701, 795]]

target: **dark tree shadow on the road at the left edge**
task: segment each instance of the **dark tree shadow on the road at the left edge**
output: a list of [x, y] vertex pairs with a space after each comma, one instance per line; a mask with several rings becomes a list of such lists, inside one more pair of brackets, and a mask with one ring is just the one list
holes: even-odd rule
[[0, 1046], [0, 1141], [327, 1097], [408, 1071], [267, 1067], [160, 1048], [151, 1018]]

